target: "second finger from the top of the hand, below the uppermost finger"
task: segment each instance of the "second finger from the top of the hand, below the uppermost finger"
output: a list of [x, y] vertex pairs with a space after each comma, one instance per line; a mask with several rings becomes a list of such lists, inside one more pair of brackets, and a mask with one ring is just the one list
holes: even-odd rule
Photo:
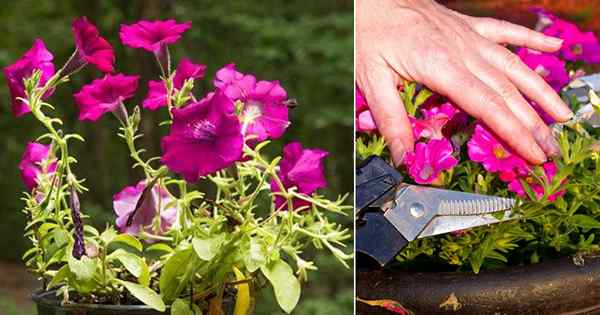
[[504, 72], [525, 96], [535, 101], [556, 121], [564, 122], [573, 117], [571, 109], [554, 89], [525, 65], [517, 55], [504, 47], [493, 44], [484, 44], [481, 50], [482, 56], [490, 64]]

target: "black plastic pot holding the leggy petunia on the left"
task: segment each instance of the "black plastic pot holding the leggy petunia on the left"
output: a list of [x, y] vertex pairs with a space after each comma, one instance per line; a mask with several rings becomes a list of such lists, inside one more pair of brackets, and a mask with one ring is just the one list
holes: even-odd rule
[[[38, 291], [31, 295], [37, 305], [38, 315], [163, 315], [170, 314], [169, 307], [165, 312], [158, 312], [145, 305], [104, 305], [104, 304], [67, 304], [61, 305], [56, 291]], [[223, 311], [233, 314], [235, 301], [225, 299]]]

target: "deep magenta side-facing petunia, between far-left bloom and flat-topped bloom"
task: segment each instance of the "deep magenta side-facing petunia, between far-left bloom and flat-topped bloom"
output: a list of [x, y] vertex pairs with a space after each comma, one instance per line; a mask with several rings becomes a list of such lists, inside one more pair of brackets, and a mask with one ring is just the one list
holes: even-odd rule
[[115, 53], [108, 41], [100, 36], [96, 26], [84, 16], [75, 19], [71, 28], [80, 58], [102, 72], [113, 72]]

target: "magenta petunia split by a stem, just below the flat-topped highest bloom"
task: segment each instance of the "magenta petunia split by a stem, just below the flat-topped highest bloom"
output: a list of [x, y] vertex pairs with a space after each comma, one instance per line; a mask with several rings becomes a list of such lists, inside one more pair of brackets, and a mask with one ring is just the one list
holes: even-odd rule
[[[205, 71], [205, 65], [192, 63], [187, 58], [182, 59], [175, 70], [173, 88], [180, 90], [186, 80], [203, 78]], [[167, 106], [167, 87], [163, 81], [148, 81], [148, 94], [142, 105], [150, 110]]]

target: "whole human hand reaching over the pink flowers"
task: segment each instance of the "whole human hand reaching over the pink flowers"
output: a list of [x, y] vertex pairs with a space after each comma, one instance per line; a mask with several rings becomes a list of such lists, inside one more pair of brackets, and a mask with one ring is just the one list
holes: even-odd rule
[[573, 113], [502, 44], [553, 52], [562, 40], [506, 21], [466, 16], [433, 0], [356, 1], [356, 80], [395, 164], [413, 150], [411, 124], [398, 95], [403, 79], [447, 96], [531, 163], [559, 153], [550, 128], [523, 95], [556, 121]]

